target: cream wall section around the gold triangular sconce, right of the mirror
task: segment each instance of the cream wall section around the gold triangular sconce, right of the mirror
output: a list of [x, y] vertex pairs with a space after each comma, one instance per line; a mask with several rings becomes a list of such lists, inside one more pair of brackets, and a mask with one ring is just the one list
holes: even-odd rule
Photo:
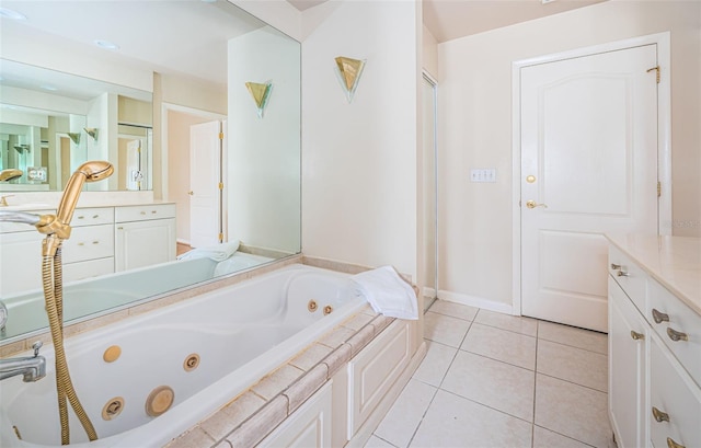
[[[415, 278], [421, 4], [312, 10], [302, 43], [302, 250]], [[350, 104], [337, 56], [367, 59]]]

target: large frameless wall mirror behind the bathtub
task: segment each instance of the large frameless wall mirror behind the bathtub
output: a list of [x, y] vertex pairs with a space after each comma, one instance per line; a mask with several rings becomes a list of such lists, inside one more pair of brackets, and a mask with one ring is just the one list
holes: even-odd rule
[[[114, 273], [67, 282], [66, 321], [300, 252], [297, 41], [227, 0], [3, 1], [2, 7], [0, 170], [22, 175], [0, 181], [0, 196], [9, 196], [10, 207], [55, 208], [78, 165], [108, 160], [115, 173], [85, 184], [81, 200], [111, 207], [118, 197], [115, 209], [131, 200], [172, 205], [171, 230], [194, 248], [186, 254], [203, 250], [135, 269], [115, 262]], [[260, 85], [267, 85], [264, 101], [255, 90]], [[205, 152], [207, 141], [220, 141], [215, 143], [220, 152]], [[212, 185], [212, 200], [196, 200]], [[0, 269], [39, 271], [24, 255], [5, 256], [20, 241], [16, 226], [0, 222]], [[115, 223], [113, 231], [116, 246], [120, 228]], [[28, 244], [39, 253], [41, 236], [32, 238]], [[142, 246], [150, 251], [150, 240]], [[221, 252], [241, 256], [221, 261]], [[4, 294], [0, 287], [9, 309], [0, 345], [45, 330], [43, 301], [35, 296], [41, 289]]]

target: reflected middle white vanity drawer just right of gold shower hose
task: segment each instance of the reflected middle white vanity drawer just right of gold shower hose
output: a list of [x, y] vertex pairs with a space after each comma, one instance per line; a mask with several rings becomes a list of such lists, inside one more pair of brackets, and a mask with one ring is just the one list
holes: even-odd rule
[[77, 227], [64, 241], [64, 263], [114, 256], [114, 226]]

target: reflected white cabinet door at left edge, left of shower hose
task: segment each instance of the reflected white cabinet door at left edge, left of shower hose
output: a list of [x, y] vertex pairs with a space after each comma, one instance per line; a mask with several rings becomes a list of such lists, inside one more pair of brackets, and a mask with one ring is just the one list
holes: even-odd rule
[[42, 240], [35, 230], [0, 233], [0, 296], [42, 289]]

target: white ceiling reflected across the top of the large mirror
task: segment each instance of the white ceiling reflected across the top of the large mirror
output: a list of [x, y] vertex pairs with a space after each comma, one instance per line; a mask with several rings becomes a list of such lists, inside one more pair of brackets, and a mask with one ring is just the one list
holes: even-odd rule
[[[264, 26], [228, 1], [0, 0], [0, 8], [26, 18], [1, 19], [0, 51], [3, 41], [31, 36], [47, 48], [55, 43], [72, 48], [77, 64], [80, 57], [99, 54], [101, 61], [114, 64], [115, 69], [129, 64], [222, 85], [227, 83], [227, 42]], [[99, 48], [95, 39], [119, 48]]]

